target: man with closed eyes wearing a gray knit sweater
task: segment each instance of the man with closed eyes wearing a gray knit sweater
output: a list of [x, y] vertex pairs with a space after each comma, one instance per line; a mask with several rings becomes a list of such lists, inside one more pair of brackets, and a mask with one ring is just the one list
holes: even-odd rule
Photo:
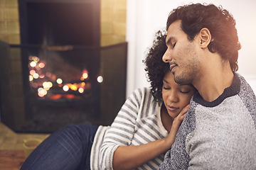
[[213, 4], [169, 15], [163, 56], [178, 84], [198, 89], [159, 169], [256, 169], [256, 98], [238, 70], [235, 20]]

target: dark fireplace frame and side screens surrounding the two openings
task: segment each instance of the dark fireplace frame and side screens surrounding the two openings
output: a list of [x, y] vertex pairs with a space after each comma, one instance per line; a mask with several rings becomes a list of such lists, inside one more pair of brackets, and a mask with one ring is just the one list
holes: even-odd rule
[[[0, 42], [1, 63], [0, 63], [0, 104], [1, 122], [8, 125], [16, 132], [53, 132], [63, 126], [74, 123], [90, 123], [92, 125], [110, 125], [117, 115], [119, 109], [125, 101], [126, 94], [126, 75], [127, 75], [127, 42], [117, 45], [100, 47], [100, 0], [18, 0], [21, 28], [21, 45], [10, 45]], [[28, 12], [29, 3], [92, 3], [93, 6], [93, 26], [91, 33], [93, 36], [90, 44], [50, 44], [46, 41], [43, 44], [31, 43], [28, 31]], [[53, 40], [54, 42], [54, 40]], [[60, 41], [56, 41], [60, 42]], [[82, 42], [82, 41], [80, 41]], [[38, 50], [56, 52], [81, 52], [85, 60], [94, 57], [95, 67], [100, 70], [104, 81], [102, 84], [91, 79], [92, 94], [91, 98], [85, 98], [85, 104], [92, 105], [92, 119], [85, 120], [83, 115], [78, 118], [62, 116], [56, 113], [50, 119], [50, 123], [44, 124], [43, 120], [34, 120], [36, 109], [31, 109], [31, 91], [28, 81], [28, 55]], [[91, 55], [91, 56], [90, 56]], [[92, 78], [97, 76], [97, 71], [92, 71]], [[94, 85], [93, 85], [94, 84]], [[43, 101], [45, 102], [45, 101]], [[60, 102], [61, 103], [61, 102]], [[75, 101], [68, 101], [72, 108]], [[56, 106], [58, 103], [47, 103]], [[63, 106], [63, 104], [60, 106]], [[68, 108], [70, 109], [70, 108]], [[47, 114], [46, 114], [47, 115]], [[60, 116], [60, 117], [58, 117]], [[61, 117], [62, 116], [62, 117]], [[47, 116], [46, 116], [47, 117]], [[71, 118], [71, 119], [70, 119]], [[63, 119], [63, 123], [58, 124], [58, 120]]]

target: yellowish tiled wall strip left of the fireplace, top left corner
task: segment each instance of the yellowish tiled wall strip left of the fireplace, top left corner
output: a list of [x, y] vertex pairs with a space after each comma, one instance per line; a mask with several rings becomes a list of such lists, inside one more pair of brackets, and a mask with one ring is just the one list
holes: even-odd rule
[[0, 40], [20, 44], [18, 0], [0, 0]]

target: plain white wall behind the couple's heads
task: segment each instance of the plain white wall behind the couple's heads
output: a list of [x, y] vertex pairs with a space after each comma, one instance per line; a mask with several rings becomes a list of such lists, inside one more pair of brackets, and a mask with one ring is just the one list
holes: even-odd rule
[[256, 93], [256, 1], [255, 0], [212, 0], [212, 1], [178, 1], [178, 0], [127, 0], [127, 96], [134, 89], [149, 86], [142, 60], [145, 51], [151, 46], [154, 33], [165, 28], [169, 12], [183, 4], [203, 3], [222, 5], [233, 14], [242, 44], [238, 57], [238, 73], [251, 84]]

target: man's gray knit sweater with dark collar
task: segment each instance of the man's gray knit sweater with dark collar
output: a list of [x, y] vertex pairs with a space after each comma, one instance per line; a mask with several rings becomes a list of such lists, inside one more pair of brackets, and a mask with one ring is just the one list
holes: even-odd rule
[[256, 98], [243, 77], [213, 102], [193, 96], [159, 169], [256, 169]]

